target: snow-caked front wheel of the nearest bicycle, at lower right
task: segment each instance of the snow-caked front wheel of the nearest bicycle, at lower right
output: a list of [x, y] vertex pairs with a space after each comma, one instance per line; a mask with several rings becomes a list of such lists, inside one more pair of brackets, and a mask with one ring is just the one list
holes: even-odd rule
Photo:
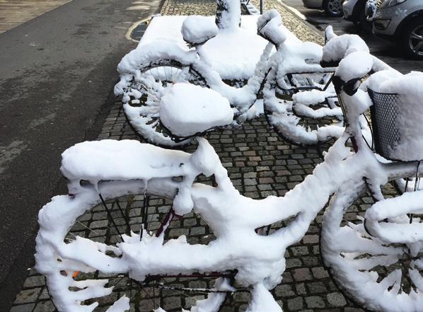
[[[342, 186], [332, 197], [323, 219], [320, 240], [325, 265], [350, 299], [370, 310], [422, 311], [423, 244], [418, 241], [401, 243], [401, 233], [397, 235], [397, 242], [390, 243], [371, 236], [361, 209], [371, 202], [369, 195], [362, 196], [365, 186], [362, 180], [353, 181]], [[386, 205], [388, 197], [401, 201], [404, 196], [398, 195], [390, 184], [383, 187], [387, 200], [382, 200], [380, 195], [378, 204], [381, 207]], [[403, 205], [398, 209], [400, 206]], [[420, 217], [402, 212], [382, 223], [391, 229], [419, 227], [423, 226]]]

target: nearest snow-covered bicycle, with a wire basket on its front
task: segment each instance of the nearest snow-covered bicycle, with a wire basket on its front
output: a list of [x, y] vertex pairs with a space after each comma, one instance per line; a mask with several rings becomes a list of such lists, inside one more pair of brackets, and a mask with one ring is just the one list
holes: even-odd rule
[[[423, 175], [419, 166], [422, 127], [415, 123], [423, 115], [419, 105], [423, 74], [378, 71], [380, 64], [367, 47], [352, 38], [335, 37], [323, 52], [325, 62], [342, 59], [334, 84], [347, 127], [325, 154], [325, 161], [284, 197], [253, 200], [241, 195], [204, 138], [198, 138], [192, 154], [130, 140], [83, 142], [66, 150], [61, 170], [69, 179], [69, 195], [53, 197], [40, 211], [35, 254], [36, 268], [46, 275], [57, 309], [93, 311], [100, 301], [97, 298], [108, 296], [101, 300], [115, 302], [108, 312], [129, 310], [129, 298], [122, 291], [112, 295], [114, 284], [109, 280], [113, 275], [145, 285], [142, 283], [159, 277], [209, 273], [219, 279], [207, 299], [197, 301], [191, 311], [218, 311], [226, 293], [236, 290], [231, 282], [250, 290], [247, 311], [282, 311], [270, 289], [282, 280], [285, 250], [301, 240], [335, 194], [325, 213], [321, 240], [332, 274], [354, 299], [369, 308], [421, 311], [423, 224], [419, 214], [423, 212], [423, 192], [385, 199], [381, 187], [398, 178], [414, 177], [418, 184]], [[361, 133], [359, 116], [372, 100], [359, 88], [359, 81], [372, 70], [378, 73], [362, 88], [373, 92], [373, 103], [378, 102], [374, 100], [378, 94], [389, 93], [402, 104], [393, 107], [407, 105], [407, 109], [397, 110], [392, 120], [386, 119], [391, 115], [378, 112], [384, 106], [372, 108], [376, 147], [383, 156], [397, 161], [381, 160], [373, 154]], [[385, 134], [395, 135], [386, 140]], [[214, 176], [214, 186], [194, 183], [199, 175]], [[343, 224], [345, 210], [365, 185], [378, 202], [367, 210], [363, 222]], [[113, 221], [113, 214], [119, 216], [124, 207], [118, 199], [128, 195], [154, 195], [173, 201], [156, 235], [145, 229], [120, 233], [120, 243], [91, 240], [91, 232], [87, 237], [69, 235], [79, 216], [98, 204], [103, 204], [118, 231], [122, 226]], [[144, 210], [148, 210], [146, 206]], [[170, 221], [191, 212], [201, 216], [216, 239], [206, 245], [188, 243], [184, 235], [165, 240]], [[272, 233], [262, 230], [281, 220], [286, 226]], [[395, 267], [396, 260], [408, 269]], [[386, 276], [381, 278], [383, 274]], [[402, 274], [408, 278], [403, 280]]]

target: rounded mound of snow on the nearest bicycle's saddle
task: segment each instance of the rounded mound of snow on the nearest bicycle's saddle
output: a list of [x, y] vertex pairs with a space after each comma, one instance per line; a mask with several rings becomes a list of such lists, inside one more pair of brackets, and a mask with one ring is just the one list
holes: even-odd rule
[[160, 120], [178, 137], [189, 137], [231, 124], [233, 110], [229, 101], [212, 89], [175, 83], [161, 98]]

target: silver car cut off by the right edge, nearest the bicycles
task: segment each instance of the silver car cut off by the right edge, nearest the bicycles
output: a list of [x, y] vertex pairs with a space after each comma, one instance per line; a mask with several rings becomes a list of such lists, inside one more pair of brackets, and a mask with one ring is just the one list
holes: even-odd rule
[[408, 57], [423, 59], [423, 0], [378, 0], [367, 11], [375, 35], [398, 42]]

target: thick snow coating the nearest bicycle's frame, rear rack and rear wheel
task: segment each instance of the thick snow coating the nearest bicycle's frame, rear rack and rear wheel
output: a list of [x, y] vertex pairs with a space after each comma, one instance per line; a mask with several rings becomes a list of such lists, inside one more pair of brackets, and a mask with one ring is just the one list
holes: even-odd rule
[[[62, 172], [71, 179], [69, 192], [72, 195], [54, 197], [39, 214], [37, 270], [47, 275], [54, 303], [62, 311], [86, 311], [80, 301], [112, 291], [105, 288], [107, 280], [76, 282], [70, 274], [62, 275], [63, 270], [129, 273], [131, 278], [142, 281], [153, 274], [233, 269], [238, 270], [236, 281], [239, 284], [255, 285], [248, 311], [262, 311], [262, 306], [280, 311], [267, 289], [272, 289], [282, 279], [286, 248], [301, 240], [337, 185], [357, 173], [365, 175], [363, 163], [366, 166], [372, 163], [372, 158], [362, 158], [366, 155], [348, 157], [349, 149], [344, 147], [347, 139], [349, 134], [344, 134], [325, 156], [325, 162], [294, 190], [284, 197], [270, 196], [263, 200], [239, 194], [205, 139], [198, 139], [199, 146], [193, 154], [167, 151], [137, 141], [76, 144], [64, 152], [62, 163]], [[193, 184], [201, 173], [214, 175], [218, 186]], [[172, 180], [174, 176], [183, 179], [176, 182]], [[79, 180], [90, 180], [95, 187], [79, 185]], [[99, 183], [100, 180], [103, 182]], [[64, 237], [71, 224], [99, 202], [98, 192], [106, 200], [142, 192], [174, 197], [175, 213], [186, 214], [194, 209], [210, 226], [216, 241], [208, 245], [191, 245], [185, 236], [180, 236], [164, 243], [163, 236], [156, 238], [144, 231], [142, 239], [139, 234], [132, 233], [124, 236], [124, 242], [116, 246], [79, 237], [65, 243]], [[270, 236], [255, 232], [261, 226], [292, 216], [296, 219], [289, 226]], [[106, 251], [122, 257], [110, 257]], [[71, 291], [69, 287], [86, 289]], [[125, 299], [119, 306], [124, 307], [123, 301]]]

